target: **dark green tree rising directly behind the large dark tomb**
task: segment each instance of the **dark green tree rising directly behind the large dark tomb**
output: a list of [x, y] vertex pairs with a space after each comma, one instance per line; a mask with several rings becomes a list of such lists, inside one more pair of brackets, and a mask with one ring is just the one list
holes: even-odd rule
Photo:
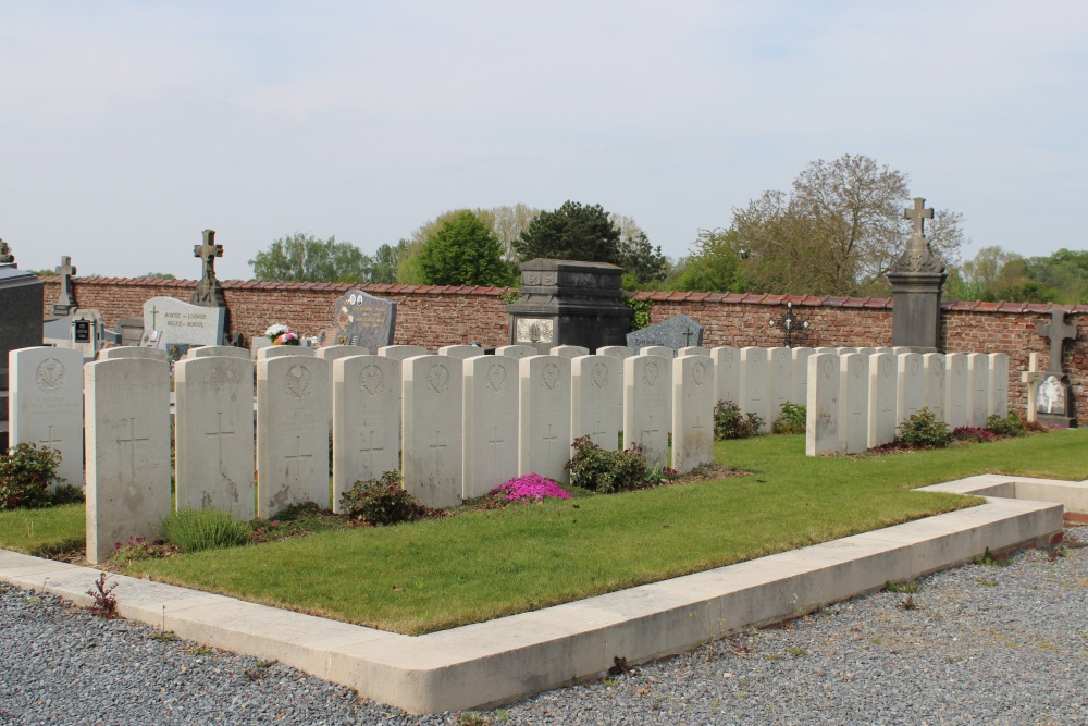
[[619, 237], [601, 205], [568, 200], [555, 211], [541, 212], [512, 244], [521, 261], [545, 257], [622, 264]]

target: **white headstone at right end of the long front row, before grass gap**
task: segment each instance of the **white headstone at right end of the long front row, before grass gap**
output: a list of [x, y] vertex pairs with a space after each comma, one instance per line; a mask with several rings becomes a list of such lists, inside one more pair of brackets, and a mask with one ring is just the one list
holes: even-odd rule
[[672, 468], [714, 463], [714, 360], [681, 355], [672, 364]]

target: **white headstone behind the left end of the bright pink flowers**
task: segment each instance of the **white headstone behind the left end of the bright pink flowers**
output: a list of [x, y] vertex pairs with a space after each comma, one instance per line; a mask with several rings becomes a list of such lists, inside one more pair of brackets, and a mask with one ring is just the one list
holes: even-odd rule
[[507, 356], [474, 356], [462, 365], [461, 496], [474, 499], [518, 476], [518, 361]]

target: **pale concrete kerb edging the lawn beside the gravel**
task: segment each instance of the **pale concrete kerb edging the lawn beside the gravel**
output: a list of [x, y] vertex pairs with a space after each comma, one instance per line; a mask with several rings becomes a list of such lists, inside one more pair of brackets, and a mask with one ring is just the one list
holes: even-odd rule
[[[726, 567], [409, 637], [224, 595], [113, 576], [119, 612], [178, 637], [275, 659], [411, 713], [496, 705], [683, 652], [984, 554], [1047, 544], [1088, 481], [982, 475], [924, 488], [987, 503]], [[1016, 500], [1014, 496], [1031, 496]], [[1053, 499], [1052, 499], [1053, 497]], [[1037, 501], [1047, 500], [1047, 501]], [[1054, 503], [1054, 502], [1058, 503]], [[0, 551], [0, 580], [79, 605], [98, 570]], [[164, 608], [165, 606], [165, 608]]]

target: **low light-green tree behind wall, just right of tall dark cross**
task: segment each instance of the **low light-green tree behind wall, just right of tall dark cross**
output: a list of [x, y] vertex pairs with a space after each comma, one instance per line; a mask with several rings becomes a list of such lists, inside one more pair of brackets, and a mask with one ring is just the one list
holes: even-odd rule
[[255, 280], [292, 282], [370, 282], [369, 256], [336, 237], [319, 239], [296, 232], [273, 242], [249, 260]]

